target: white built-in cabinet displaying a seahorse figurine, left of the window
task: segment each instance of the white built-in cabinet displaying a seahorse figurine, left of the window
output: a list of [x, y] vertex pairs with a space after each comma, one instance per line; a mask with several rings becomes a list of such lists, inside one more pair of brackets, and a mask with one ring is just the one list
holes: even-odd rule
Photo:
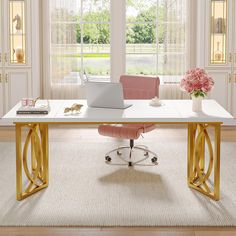
[[38, 4], [0, 0], [0, 117], [23, 97], [40, 94]]

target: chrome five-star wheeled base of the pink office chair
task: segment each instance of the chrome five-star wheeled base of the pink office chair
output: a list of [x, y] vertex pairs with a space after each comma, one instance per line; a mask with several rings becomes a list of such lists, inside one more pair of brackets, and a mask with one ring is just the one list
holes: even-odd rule
[[[122, 150], [124, 150], [124, 149], [129, 149], [128, 159], [125, 159], [122, 156]], [[134, 150], [143, 151], [144, 152], [144, 154], [143, 154], [144, 158], [142, 158], [141, 160], [133, 162], [132, 153], [133, 153]], [[114, 152], [116, 152], [117, 157], [120, 160], [122, 160], [124, 162], [124, 164], [123, 163], [113, 163], [112, 158], [111, 158], [111, 154], [114, 153]], [[150, 154], [152, 155], [152, 158], [150, 157]], [[150, 158], [150, 164], [141, 164], [141, 162], [145, 161], [148, 158]], [[106, 153], [106, 155], [105, 155], [105, 162], [107, 164], [109, 164], [109, 165], [128, 165], [129, 167], [132, 167], [134, 165], [156, 166], [156, 165], [158, 165], [157, 160], [158, 160], [157, 159], [157, 154], [152, 152], [151, 150], [149, 150], [148, 147], [144, 146], [144, 145], [137, 145], [137, 146], [133, 146], [133, 147], [130, 147], [130, 146], [119, 147], [119, 148], [111, 150], [110, 152]]]

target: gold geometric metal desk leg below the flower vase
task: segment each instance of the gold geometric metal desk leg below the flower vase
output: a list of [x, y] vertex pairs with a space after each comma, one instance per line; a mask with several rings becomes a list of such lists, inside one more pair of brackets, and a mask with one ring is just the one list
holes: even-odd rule
[[[209, 127], [214, 130], [214, 148]], [[214, 200], [220, 199], [220, 130], [221, 123], [188, 125], [188, 185]], [[205, 149], [208, 149], [208, 158]]]

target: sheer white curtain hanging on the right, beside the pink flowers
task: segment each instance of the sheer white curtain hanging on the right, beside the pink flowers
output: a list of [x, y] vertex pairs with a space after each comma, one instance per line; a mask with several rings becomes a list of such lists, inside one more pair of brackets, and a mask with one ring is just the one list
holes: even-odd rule
[[[179, 81], [185, 72], [195, 67], [196, 1], [163, 0], [165, 14], [164, 60], [158, 63], [161, 78], [162, 99], [188, 99], [189, 95], [179, 88]], [[190, 43], [191, 42], [191, 43]], [[169, 71], [169, 75], [168, 75]]]

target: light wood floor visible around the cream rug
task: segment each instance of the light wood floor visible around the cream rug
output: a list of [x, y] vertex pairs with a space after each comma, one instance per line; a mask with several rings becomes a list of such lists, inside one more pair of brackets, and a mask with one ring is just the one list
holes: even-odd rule
[[[161, 126], [155, 133], [163, 139], [186, 140], [185, 126]], [[154, 134], [153, 134], [154, 136]], [[222, 140], [236, 142], [236, 128], [223, 127]], [[98, 135], [92, 128], [78, 128], [76, 126], [50, 127], [50, 141], [78, 142], [80, 139], [91, 141]], [[13, 127], [0, 127], [0, 142], [15, 140]], [[235, 143], [236, 145], [236, 143]], [[2, 189], [0, 190], [2, 194]], [[0, 213], [1, 214], [1, 213]], [[236, 236], [236, 227], [0, 227], [1, 236]]]

